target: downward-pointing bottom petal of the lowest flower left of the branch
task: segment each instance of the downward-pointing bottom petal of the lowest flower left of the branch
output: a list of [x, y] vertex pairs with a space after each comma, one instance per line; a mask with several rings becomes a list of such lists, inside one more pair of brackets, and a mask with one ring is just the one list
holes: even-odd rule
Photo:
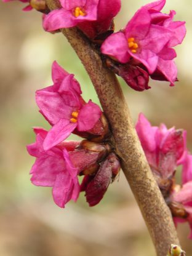
[[53, 198], [57, 206], [64, 208], [65, 204], [71, 200], [73, 194], [73, 179], [65, 172], [57, 175], [52, 190]]

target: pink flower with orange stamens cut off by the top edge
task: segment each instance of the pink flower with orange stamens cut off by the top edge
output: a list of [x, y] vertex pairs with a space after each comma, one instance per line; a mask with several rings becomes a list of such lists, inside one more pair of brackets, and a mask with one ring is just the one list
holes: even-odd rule
[[90, 38], [108, 30], [121, 7], [120, 0], [60, 0], [60, 4], [62, 8], [44, 18], [44, 29], [54, 31], [78, 25]]

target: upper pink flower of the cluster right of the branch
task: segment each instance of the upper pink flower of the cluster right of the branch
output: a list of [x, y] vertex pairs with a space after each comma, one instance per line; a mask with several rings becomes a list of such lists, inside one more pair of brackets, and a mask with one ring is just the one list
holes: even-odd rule
[[186, 150], [186, 132], [167, 129], [164, 124], [151, 126], [143, 114], [139, 115], [136, 130], [153, 172], [165, 179], [172, 177]]

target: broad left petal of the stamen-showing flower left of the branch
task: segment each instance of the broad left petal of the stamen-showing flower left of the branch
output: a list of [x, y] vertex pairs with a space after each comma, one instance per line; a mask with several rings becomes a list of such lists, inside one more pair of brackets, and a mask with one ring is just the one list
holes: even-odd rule
[[36, 103], [50, 124], [56, 124], [62, 118], [70, 118], [73, 109], [66, 106], [57, 92], [36, 91]]

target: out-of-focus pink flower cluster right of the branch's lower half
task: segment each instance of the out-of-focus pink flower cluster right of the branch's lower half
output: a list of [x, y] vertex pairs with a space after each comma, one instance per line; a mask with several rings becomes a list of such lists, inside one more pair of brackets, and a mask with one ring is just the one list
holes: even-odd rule
[[[140, 114], [136, 130], [158, 186], [178, 222], [188, 222], [192, 239], [192, 155], [186, 148], [186, 131], [151, 126]], [[183, 166], [182, 186], [175, 183], [175, 170]]]

